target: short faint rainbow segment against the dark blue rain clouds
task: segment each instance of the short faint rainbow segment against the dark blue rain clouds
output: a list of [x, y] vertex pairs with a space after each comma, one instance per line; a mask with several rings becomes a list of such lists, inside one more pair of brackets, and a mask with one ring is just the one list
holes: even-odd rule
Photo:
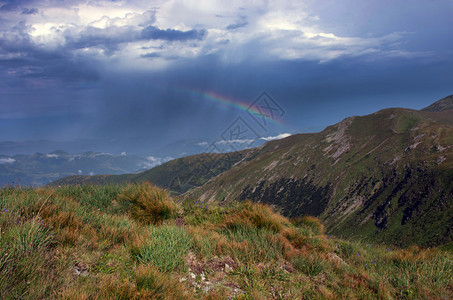
[[181, 92], [184, 92], [184, 93], [188, 93], [194, 97], [206, 99], [212, 103], [220, 104], [219, 107], [221, 109], [234, 108], [238, 111], [243, 111], [246, 113], [254, 114], [259, 117], [263, 117], [267, 122], [269, 122], [271, 124], [276, 124], [278, 126], [282, 126], [282, 121], [280, 119], [278, 119], [276, 116], [274, 118], [271, 118], [270, 116], [263, 114], [261, 111], [259, 111], [255, 107], [249, 108], [250, 103], [232, 99], [232, 98], [223, 96], [219, 93], [215, 93], [212, 91], [199, 91], [199, 90], [187, 89], [187, 88], [180, 88], [178, 90]]

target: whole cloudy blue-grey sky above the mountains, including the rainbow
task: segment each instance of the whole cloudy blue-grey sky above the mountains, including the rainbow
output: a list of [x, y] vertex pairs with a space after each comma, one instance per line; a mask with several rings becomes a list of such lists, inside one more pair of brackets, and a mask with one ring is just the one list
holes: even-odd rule
[[0, 142], [152, 152], [420, 109], [453, 94], [452, 14], [451, 0], [0, 0]]

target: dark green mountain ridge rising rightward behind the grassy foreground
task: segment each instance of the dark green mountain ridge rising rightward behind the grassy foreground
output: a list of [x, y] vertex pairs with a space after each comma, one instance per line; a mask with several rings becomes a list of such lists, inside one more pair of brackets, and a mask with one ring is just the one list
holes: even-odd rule
[[320, 133], [177, 159], [140, 175], [56, 184], [148, 180], [203, 201], [250, 199], [288, 217], [314, 215], [342, 237], [445, 244], [453, 241], [452, 103], [449, 96], [420, 111], [384, 109]]

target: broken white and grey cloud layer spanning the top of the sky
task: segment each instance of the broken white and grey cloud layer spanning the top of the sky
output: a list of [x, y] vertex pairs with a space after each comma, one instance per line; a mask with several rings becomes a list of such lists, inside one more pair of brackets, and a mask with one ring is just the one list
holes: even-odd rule
[[[406, 30], [408, 26], [367, 35], [345, 34], [339, 26], [323, 26], [326, 20], [320, 15], [331, 13], [329, 9], [318, 11], [325, 5], [325, 1], [256, 1], [246, 5], [242, 1], [228, 5], [223, 1], [197, 5], [191, 1], [8, 1], [0, 7], [0, 51], [3, 61], [10, 64], [22, 61], [25, 65], [37, 56], [48, 60], [50, 56], [66, 60], [90, 57], [103, 62], [115, 59], [136, 68], [159, 67], [165, 59], [212, 54], [237, 62], [250, 58], [328, 61], [370, 54], [375, 58], [430, 54], [403, 45], [414, 34]], [[356, 17], [350, 21], [363, 22], [365, 18]], [[29, 70], [27, 74], [40, 73]]]

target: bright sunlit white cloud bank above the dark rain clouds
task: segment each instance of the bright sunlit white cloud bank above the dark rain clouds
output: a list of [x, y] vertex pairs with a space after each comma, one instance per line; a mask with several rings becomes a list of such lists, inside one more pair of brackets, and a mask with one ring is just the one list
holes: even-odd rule
[[[37, 47], [114, 59], [120, 67], [156, 69], [175, 62], [175, 58], [213, 53], [230, 62], [254, 57], [323, 62], [370, 51], [382, 56], [411, 55], [396, 43], [403, 39], [402, 33], [357, 37], [324, 28], [325, 20], [313, 12], [310, 1], [81, 1], [67, 7], [35, 5], [40, 14], [21, 18]], [[162, 30], [206, 30], [207, 35], [203, 40], [184, 41], [137, 38], [150, 25]], [[105, 38], [111, 49], [94, 42], [74, 47], [94, 29], [103, 30], [99, 37]]]

